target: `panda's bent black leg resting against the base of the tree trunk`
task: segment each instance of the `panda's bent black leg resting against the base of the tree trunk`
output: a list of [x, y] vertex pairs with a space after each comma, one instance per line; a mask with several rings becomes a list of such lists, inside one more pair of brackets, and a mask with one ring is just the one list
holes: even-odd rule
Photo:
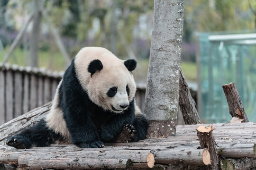
[[[133, 142], [144, 140], [146, 138], [147, 127], [148, 127], [148, 122], [145, 116], [143, 114], [137, 114], [135, 116], [135, 120], [132, 125], [133, 127], [130, 127], [129, 129], [136, 130], [136, 133], [131, 134], [133, 136]], [[133, 133], [133, 130], [131, 130], [130, 133]]]

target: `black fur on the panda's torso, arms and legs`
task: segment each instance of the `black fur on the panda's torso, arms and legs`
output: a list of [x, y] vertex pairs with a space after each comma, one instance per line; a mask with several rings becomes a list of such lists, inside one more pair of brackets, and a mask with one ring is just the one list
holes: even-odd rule
[[[89, 69], [91, 70], [90, 66]], [[123, 113], [104, 111], [90, 100], [76, 77], [74, 59], [65, 71], [59, 87], [57, 107], [63, 111], [73, 144], [81, 148], [103, 147], [103, 142], [115, 142], [115, 137], [127, 124], [133, 125], [133, 130], [136, 130], [133, 135], [134, 142], [143, 140], [146, 136], [148, 124], [143, 116], [135, 118], [134, 100], [129, 103], [128, 109]], [[14, 144], [14, 139], [18, 140], [18, 144]], [[18, 135], [10, 137], [7, 144], [22, 149], [30, 148], [32, 145], [48, 146], [55, 140], [63, 140], [63, 137], [48, 129], [45, 120], [42, 119], [34, 127], [29, 127]]]

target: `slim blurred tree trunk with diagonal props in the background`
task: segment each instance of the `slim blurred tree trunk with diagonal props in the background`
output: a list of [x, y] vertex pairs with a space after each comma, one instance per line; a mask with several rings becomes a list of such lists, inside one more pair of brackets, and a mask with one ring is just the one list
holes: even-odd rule
[[34, 22], [30, 40], [30, 66], [38, 67], [38, 42], [40, 36], [40, 24], [42, 20], [42, 1], [35, 0]]

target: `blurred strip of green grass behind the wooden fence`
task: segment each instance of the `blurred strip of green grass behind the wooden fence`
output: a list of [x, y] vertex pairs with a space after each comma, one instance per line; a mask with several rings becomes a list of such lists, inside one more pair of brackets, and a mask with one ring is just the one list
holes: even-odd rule
[[[0, 62], [2, 62], [4, 53], [6, 53], [7, 50], [8, 49], [6, 49], [5, 52], [0, 51]], [[19, 66], [29, 66], [29, 55], [29, 51], [16, 48], [8, 62], [9, 64], [18, 64]], [[148, 59], [139, 59], [138, 63], [139, 67], [137, 68], [137, 72], [134, 72], [135, 80], [137, 82], [146, 82]], [[44, 67], [50, 70], [62, 71], [65, 69], [64, 57], [58, 51], [39, 51], [38, 64], [40, 68]], [[181, 66], [186, 80], [196, 81], [196, 63], [182, 61]]]

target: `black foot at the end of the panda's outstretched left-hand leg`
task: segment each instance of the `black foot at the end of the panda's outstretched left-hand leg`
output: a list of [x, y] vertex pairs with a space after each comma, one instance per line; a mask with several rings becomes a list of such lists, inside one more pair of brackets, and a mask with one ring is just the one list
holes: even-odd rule
[[11, 136], [6, 140], [6, 144], [15, 147], [16, 149], [28, 149], [31, 147], [31, 143], [22, 136]]

